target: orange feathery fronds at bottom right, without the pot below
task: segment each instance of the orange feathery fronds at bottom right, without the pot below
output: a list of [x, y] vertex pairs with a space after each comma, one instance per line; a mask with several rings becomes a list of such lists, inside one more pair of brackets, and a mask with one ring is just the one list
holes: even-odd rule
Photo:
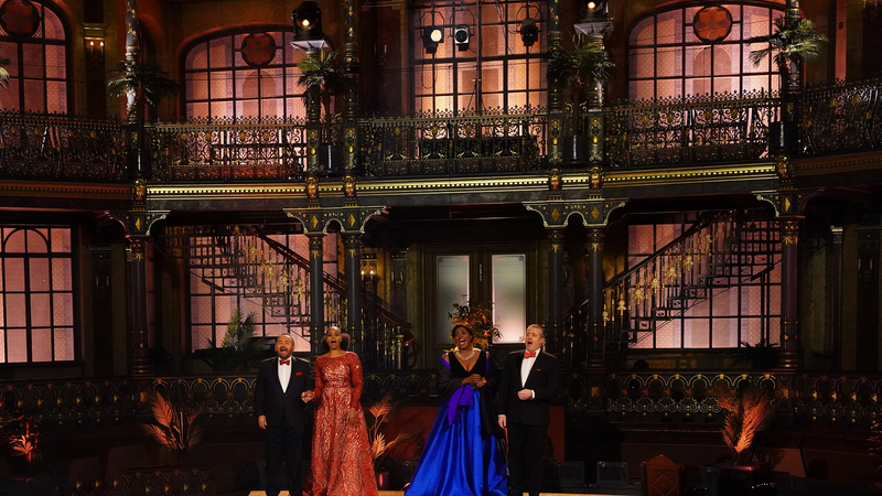
[[742, 391], [716, 395], [717, 405], [725, 410], [721, 432], [723, 441], [732, 450], [732, 463], [742, 465], [750, 461], [749, 449], [757, 432], [768, 425], [779, 403], [771, 391], [753, 386]]

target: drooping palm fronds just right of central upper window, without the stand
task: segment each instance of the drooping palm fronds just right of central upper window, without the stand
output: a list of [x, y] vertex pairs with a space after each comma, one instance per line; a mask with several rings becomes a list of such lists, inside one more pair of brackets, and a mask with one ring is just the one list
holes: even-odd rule
[[579, 122], [582, 101], [587, 99], [591, 85], [609, 82], [610, 69], [615, 67], [615, 63], [606, 57], [606, 51], [601, 43], [584, 43], [581, 36], [574, 40], [572, 48], [551, 50], [545, 58], [548, 63], [548, 84], [563, 83], [569, 89], [573, 118]]

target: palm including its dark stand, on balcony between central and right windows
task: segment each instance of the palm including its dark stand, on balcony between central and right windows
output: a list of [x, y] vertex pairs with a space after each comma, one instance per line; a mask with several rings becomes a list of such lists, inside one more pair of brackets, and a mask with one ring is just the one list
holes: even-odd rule
[[610, 80], [610, 69], [615, 67], [615, 63], [606, 57], [603, 44], [585, 42], [580, 35], [574, 37], [572, 47], [552, 48], [545, 58], [548, 85], [563, 85], [571, 106], [571, 119], [567, 123], [570, 132], [564, 134], [563, 141], [564, 162], [582, 161], [587, 152], [587, 139], [580, 126], [582, 106], [594, 85]]

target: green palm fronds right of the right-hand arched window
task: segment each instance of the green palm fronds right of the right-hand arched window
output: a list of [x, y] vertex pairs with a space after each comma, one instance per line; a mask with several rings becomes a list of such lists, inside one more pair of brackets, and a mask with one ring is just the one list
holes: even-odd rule
[[750, 58], [759, 65], [766, 56], [785, 72], [789, 64], [799, 65], [803, 61], [820, 55], [822, 43], [827, 36], [815, 32], [815, 23], [802, 19], [793, 26], [787, 26], [787, 21], [782, 17], [775, 19], [775, 32], [765, 36], [753, 36], [746, 40], [747, 44], [766, 43], [768, 46], [751, 52]]

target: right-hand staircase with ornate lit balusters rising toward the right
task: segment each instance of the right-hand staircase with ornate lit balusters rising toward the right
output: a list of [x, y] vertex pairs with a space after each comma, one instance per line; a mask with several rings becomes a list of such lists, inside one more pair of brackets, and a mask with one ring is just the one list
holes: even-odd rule
[[[702, 214], [680, 236], [605, 284], [607, 351], [616, 354], [631, 347], [655, 347], [654, 341], [646, 339], [654, 339], [660, 330], [709, 299], [745, 284], [765, 291], [779, 254], [776, 222], [755, 213]], [[576, 354], [578, 336], [587, 333], [587, 304], [564, 316]]]

